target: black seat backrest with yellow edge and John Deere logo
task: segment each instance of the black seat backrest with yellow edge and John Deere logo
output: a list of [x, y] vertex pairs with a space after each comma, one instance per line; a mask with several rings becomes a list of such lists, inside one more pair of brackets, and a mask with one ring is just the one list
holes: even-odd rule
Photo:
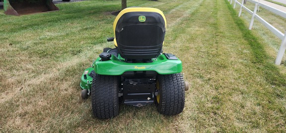
[[166, 19], [156, 8], [131, 7], [122, 10], [114, 24], [115, 46], [125, 59], [156, 58], [166, 32]]

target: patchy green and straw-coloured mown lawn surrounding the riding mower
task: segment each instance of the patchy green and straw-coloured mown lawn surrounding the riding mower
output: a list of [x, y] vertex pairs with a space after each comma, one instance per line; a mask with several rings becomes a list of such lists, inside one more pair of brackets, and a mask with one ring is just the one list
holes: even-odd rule
[[[190, 89], [177, 116], [121, 104], [109, 120], [93, 117], [79, 83], [92, 59], [113, 47], [106, 38], [121, 0], [57, 6], [19, 17], [0, 10], [0, 132], [286, 132], [286, 57], [274, 64], [281, 40], [257, 21], [248, 30], [251, 16], [237, 17], [227, 0], [128, 0], [164, 12], [164, 51], [183, 61]], [[285, 30], [285, 19], [260, 13]]]

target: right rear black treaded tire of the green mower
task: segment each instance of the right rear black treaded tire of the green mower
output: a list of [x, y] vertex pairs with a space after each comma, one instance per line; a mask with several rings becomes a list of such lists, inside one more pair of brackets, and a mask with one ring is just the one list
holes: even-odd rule
[[185, 106], [185, 84], [181, 73], [158, 75], [157, 111], [163, 115], [180, 114]]

